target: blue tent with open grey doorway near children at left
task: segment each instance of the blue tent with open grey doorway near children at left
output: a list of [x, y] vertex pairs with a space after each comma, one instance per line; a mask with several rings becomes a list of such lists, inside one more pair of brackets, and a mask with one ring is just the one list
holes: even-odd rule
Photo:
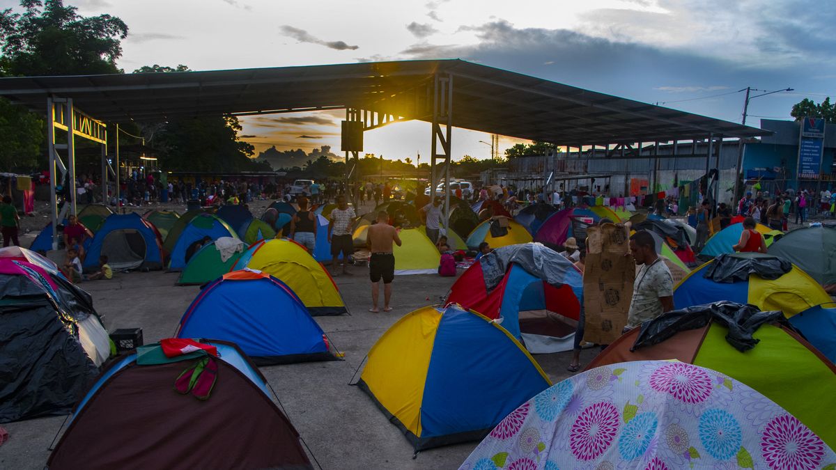
[[87, 248], [84, 270], [99, 268], [99, 255], [103, 254], [114, 269], [161, 269], [160, 232], [135, 212], [111, 214]]

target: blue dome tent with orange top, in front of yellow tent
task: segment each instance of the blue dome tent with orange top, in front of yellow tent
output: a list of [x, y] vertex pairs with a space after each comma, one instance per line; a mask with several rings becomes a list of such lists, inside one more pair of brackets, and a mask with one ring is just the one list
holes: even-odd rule
[[232, 341], [260, 365], [334, 360], [324, 332], [287, 284], [248, 269], [224, 274], [201, 289], [177, 338]]

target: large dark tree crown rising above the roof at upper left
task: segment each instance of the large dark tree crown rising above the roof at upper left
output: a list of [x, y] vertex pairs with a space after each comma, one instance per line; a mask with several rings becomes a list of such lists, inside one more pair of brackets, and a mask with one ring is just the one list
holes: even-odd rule
[[115, 74], [128, 27], [102, 14], [82, 17], [62, 0], [21, 0], [23, 13], [0, 13], [3, 74]]

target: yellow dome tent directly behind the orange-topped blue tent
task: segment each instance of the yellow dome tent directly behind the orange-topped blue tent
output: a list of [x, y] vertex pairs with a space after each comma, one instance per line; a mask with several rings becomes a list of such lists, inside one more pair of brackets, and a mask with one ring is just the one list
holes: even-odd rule
[[328, 270], [293, 240], [273, 238], [252, 245], [232, 270], [243, 268], [263, 271], [287, 284], [314, 316], [348, 313]]

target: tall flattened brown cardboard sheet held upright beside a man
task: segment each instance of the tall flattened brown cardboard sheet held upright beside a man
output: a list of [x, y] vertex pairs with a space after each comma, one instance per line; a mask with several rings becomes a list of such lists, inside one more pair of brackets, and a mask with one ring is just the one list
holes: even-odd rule
[[584, 340], [609, 345], [627, 324], [633, 298], [635, 261], [627, 255], [629, 236], [624, 225], [589, 227], [584, 268]]

